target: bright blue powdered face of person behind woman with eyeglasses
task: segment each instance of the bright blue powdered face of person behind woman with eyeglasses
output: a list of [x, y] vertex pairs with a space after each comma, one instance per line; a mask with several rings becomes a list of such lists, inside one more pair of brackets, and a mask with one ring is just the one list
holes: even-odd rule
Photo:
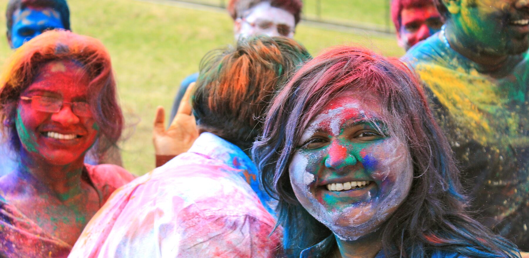
[[64, 28], [60, 14], [51, 8], [27, 7], [13, 13], [11, 48], [17, 49], [46, 30]]

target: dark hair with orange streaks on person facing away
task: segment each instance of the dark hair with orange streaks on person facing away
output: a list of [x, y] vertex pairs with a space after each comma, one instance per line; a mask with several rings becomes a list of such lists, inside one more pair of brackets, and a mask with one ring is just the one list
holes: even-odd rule
[[193, 113], [197, 125], [242, 148], [262, 129], [268, 102], [311, 56], [286, 37], [259, 36], [209, 52], [200, 62]]

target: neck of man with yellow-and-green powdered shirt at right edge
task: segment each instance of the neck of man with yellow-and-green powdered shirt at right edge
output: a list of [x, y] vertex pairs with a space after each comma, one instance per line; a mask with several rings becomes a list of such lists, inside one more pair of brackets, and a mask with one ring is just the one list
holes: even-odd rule
[[472, 40], [472, 36], [467, 36], [452, 20], [445, 26], [445, 36], [450, 47], [485, 70], [497, 70], [507, 63], [509, 55], [482, 51], [476, 41]]

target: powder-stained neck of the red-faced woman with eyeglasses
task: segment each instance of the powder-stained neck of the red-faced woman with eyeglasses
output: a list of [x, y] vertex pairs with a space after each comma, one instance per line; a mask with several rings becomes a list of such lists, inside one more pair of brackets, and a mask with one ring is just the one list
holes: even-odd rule
[[56, 196], [64, 201], [82, 192], [81, 181], [84, 156], [66, 165], [50, 164], [42, 157], [35, 157], [21, 150], [21, 163], [17, 176], [35, 191]]

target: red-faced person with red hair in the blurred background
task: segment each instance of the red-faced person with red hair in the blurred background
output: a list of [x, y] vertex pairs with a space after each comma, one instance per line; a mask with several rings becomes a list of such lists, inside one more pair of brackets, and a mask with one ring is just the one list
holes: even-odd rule
[[444, 18], [437, 11], [435, 0], [393, 0], [391, 20], [397, 41], [406, 51], [417, 42], [441, 30]]

